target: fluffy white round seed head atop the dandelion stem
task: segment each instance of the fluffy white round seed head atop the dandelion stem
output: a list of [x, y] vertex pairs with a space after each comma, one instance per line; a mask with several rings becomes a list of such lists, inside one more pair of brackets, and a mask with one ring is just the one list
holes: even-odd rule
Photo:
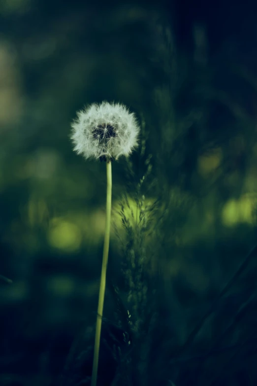
[[102, 102], [77, 113], [72, 123], [74, 150], [86, 159], [116, 160], [137, 146], [139, 126], [125, 105]]

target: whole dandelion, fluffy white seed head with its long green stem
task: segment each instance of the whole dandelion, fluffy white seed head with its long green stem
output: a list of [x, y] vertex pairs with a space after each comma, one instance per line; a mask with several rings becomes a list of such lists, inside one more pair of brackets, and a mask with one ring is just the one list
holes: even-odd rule
[[91, 386], [96, 386], [99, 345], [102, 324], [102, 312], [106, 283], [106, 270], [111, 226], [111, 192], [112, 170], [111, 161], [121, 155], [128, 156], [137, 146], [139, 126], [134, 113], [130, 113], [125, 105], [93, 104], [78, 112], [77, 120], [72, 123], [72, 141], [74, 150], [86, 159], [95, 158], [106, 161], [107, 197], [106, 222], [103, 244], [103, 259], [100, 279], [98, 309], [96, 318], [96, 337], [94, 348]]

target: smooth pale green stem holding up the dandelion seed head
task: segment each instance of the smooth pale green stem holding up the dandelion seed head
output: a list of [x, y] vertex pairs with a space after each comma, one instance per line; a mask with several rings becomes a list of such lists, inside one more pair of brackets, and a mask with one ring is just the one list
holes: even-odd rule
[[99, 357], [99, 346], [100, 346], [100, 335], [102, 326], [102, 312], [104, 302], [104, 292], [106, 283], [106, 270], [108, 263], [108, 251], [110, 243], [110, 228], [111, 228], [111, 205], [112, 205], [112, 165], [111, 161], [106, 161], [106, 173], [107, 173], [107, 197], [106, 197], [106, 223], [105, 223], [105, 234], [103, 244], [103, 257], [102, 257], [102, 271], [99, 289], [98, 309], [96, 317], [96, 337], [95, 337], [95, 349], [94, 349], [94, 361], [91, 378], [91, 386], [96, 386], [97, 380], [97, 368], [98, 368], [98, 357]]

